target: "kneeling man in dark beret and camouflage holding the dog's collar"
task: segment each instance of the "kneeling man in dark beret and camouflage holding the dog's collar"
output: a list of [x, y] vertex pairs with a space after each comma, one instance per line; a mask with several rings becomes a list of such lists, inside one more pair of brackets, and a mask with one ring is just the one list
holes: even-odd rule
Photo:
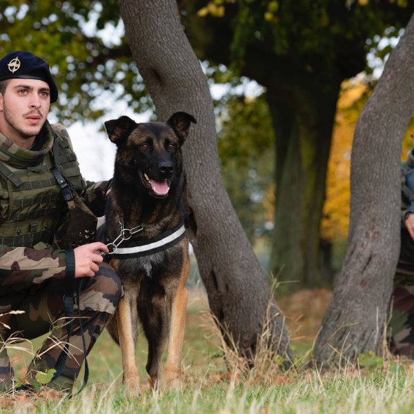
[[[99, 254], [108, 251], [104, 244], [68, 250], [52, 246], [66, 201], [51, 168], [58, 168], [98, 217], [109, 186], [108, 181], [92, 183], [81, 177], [68, 133], [47, 120], [50, 103], [56, 100], [48, 63], [19, 51], [0, 60], [1, 391], [14, 391], [3, 344], [51, 332], [32, 360], [28, 378], [53, 368], [47, 386], [72, 392], [86, 355], [121, 297], [117, 273]], [[65, 311], [70, 301], [66, 306], [64, 302], [68, 297], [75, 297], [75, 318], [69, 324]]]

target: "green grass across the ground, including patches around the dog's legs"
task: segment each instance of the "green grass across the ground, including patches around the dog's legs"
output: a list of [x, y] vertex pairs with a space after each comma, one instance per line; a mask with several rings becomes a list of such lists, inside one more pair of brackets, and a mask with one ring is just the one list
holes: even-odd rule
[[[320, 291], [313, 295], [323, 297]], [[300, 304], [311, 302], [306, 293], [293, 299]], [[293, 300], [283, 304], [288, 313], [293, 344], [308, 351], [313, 342], [315, 321], [297, 316]], [[321, 309], [326, 306], [321, 306]], [[284, 309], [282, 307], [282, 309]], [[284, 309], [285, 310], [285, 309]], [[384, 362], [372, 368], [346, 367], [320, 373], [316, 369], [283, 373], [273, 368], [257, 368], [250, 375], [236, 369], [228, 373], [220, 348], [220, 338], [213, 322], [204, 313], [203, 302], [190, 302], [184, 345], [184, 382], [181, 392], [147, 391], [140, 397], [128, 397], [121, 386], [121, 355], [107, 333], [103, 333], [88, 357], [90, 380], [86, 389], [72, 400], [58, 395], [0, 398], [0, 413], [185, 413], [185, 414], [269, 414], [269, 413], [413, 413], [414, 367], [407, 361]], [[286, 310], [285, 310], [286, 312]], [[300, 312], [299, 312], [300, 313]], [[322, 311], [321, 311], [322, 314]], [[33, 344], [37, 348], [39, 342]], [[14, 364], [23, 375], [30, 355], [22, 359], [13, 351]], [[228, 355], [228, 354], [226, 354]], [[137, 364], [142, 382], [146, 382], [146, 342], [142, 335], [137, 344]]]

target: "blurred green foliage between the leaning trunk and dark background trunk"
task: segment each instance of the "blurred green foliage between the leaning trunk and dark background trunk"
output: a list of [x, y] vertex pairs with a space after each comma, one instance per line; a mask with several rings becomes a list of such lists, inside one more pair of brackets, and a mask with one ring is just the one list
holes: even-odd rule
[[[221, 102], [223, 105], [223, 102]], [[221, 177], [250, 242], [273, 224], [273, 128], [264, 95], [230, 96], [219, 112]]]

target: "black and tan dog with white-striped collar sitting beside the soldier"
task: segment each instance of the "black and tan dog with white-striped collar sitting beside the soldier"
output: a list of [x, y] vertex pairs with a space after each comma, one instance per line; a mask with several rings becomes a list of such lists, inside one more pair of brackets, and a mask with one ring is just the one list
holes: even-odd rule
[[139, 322], [148, 340], [146, 371], [151, 385], [181, 385], [190, 270], [181, 146], [191, 123], [197, 121], [186, 112], [176, 112], [166, 123], [137, 124], [126, 116], [105, 122], [117, 152], [104, 231], [110, 264], [124, 286], [124, 297], [107, 327], [121, 347], [123, 383], [132, 394], [139, 394]]

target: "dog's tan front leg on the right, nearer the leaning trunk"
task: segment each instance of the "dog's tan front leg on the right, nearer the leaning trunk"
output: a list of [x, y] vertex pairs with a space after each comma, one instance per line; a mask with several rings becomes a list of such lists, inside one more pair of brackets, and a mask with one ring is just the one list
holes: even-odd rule
[[186, 259], [181, 273], [179, 287], [172, 302], [170, 332], [168, 334], [168, 354], [161, 382], [170, 388], [179, 388], [181, 374], [181, 352], [186, 328], [188, 291], [186, 281], [190, 271], [190, 261]]

